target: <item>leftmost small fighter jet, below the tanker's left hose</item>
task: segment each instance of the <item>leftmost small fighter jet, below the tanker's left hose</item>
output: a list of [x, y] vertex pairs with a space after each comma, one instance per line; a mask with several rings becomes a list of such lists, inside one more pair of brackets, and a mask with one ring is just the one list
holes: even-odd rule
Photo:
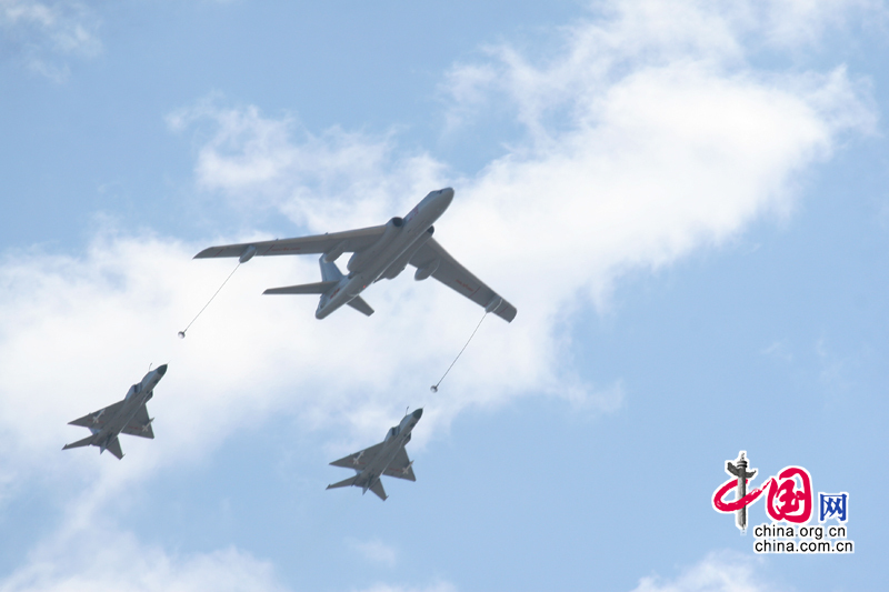
[[166, 373], [167, 364], [151, 370], [141, 382], [130, 387], [122, 401], [69, 422], [69, 425], [89, 428], [92, 434], [83, 440], [66, 444], [62, 450], [99, 446], [99, 454], [107, 450], [118, 459], [122, 459], [123, 452], [120, 450], [120, 440], [118, 440], [118, 435], [121, 433], [153, 439], [154, 431], [151, 429], [151, 422], [154, 420], [149, 419], [146, 403], [153, 397], [154, 387]]

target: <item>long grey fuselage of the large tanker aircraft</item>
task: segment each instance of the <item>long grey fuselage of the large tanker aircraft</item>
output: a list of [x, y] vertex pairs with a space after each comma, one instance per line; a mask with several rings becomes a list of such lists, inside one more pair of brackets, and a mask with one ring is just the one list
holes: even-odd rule
[[[446, 188], [431, 191], [403, 219], [401, 227], [393, 232], [389, 241], [380, 241], [379, 250], [352, 255], [349, 261], [349, 274], [340, 280], [333, 290], [327, 292], [318, 302], [316, 319], [323, 319], [354, 297], [364, 291], [371, 283], [381, 280], [392, 265], [407, 265], [404, 254], [417, 244], [430, 227], [438, 220], [453, 201], [453, 189]], [[391, 223], [391, 221], [390, 221]], [[429, 234], [431, 235], [431, 234]], [[401, 269], [394, 271], [401, 271]]]

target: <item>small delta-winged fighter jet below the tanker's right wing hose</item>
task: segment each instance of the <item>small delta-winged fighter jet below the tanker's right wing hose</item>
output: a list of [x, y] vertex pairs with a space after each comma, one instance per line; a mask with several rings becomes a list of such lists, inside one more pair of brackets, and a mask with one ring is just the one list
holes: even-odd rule
[[417, 481], [417, 478], [413, 476], [413, 461], [408, 459], [404, 444], [410, 442], [410, 432], [422, 415], [422, 409], [418, 409], [413, 413], [404, 415], [401, 423], [389, 429], [386, 439], [379, 444], [374, 444], [354, 454], [349, 454], [346, 458], [331, 462], [330, 464], [333, 466], [354, 469], [356, 475], [340, 481], [339, 483], [328, 485], [327, 489], [354, 485], [356, 488], [362, 489], [362, 495], [370, 490], [382, 501], [386, 501], [388, 495], [382, 489], [380, 476], [389, 475], [397, 476], [398, 479], [407, 479], [408, 481]]

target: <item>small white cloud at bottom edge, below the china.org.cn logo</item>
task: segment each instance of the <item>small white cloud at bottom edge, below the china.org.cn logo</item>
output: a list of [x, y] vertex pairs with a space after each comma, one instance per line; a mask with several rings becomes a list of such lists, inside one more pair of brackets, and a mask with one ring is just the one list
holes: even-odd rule
[[767, 592], [776, 590], [756, 576], [760, 561], [737, 553], [710, 553], [672, 581], [642, 578], [632, 592]]

